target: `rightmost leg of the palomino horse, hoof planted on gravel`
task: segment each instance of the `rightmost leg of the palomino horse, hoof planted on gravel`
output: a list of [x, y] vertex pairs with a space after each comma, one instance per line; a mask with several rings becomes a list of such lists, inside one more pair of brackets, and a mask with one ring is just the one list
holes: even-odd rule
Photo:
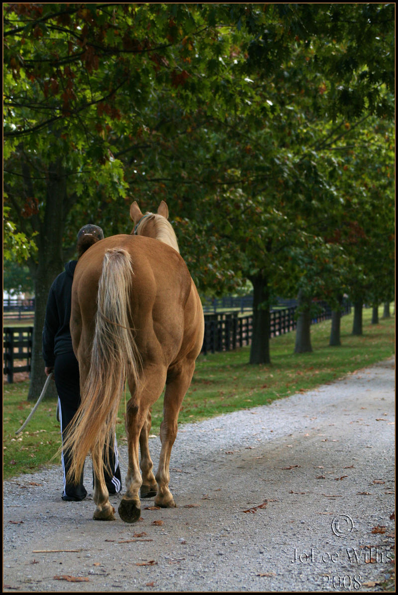
[[159, 468], [156, 473], [157, 494], [154, 503], [162, 508], [175, 506], [172, 493], [169, 490], [170, 481], [170, 455], [171, 449], [177, 436], [178, 414], [182, 400], [189, 388], [194, 374], [195, 363], [185, 365], [178, 372], [170, 371], [166, 383], [165, 400], [163, 405], [163, 421], [160, 426], [160, 450]]

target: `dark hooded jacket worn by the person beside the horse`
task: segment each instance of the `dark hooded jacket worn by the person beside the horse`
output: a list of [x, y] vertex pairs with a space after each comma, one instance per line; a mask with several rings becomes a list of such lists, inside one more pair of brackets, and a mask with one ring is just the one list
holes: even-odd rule
[[56, 277], [50, 287], [43, 327], [43, 359], [52, 367], [55, 356], [73, 352], [70, 331], [72, 281], [77, 261], [65, 264], [65, 271]]

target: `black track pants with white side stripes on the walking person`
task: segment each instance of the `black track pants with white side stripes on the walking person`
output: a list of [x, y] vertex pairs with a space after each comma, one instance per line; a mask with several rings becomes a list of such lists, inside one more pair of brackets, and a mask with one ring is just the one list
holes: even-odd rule
[[[64, 444], [68, 436], [68, 425], [80, 403], [79, 364], [73, 352], [61, 353], [56, 356], [54, 378], [58, 392], [62, 444]], [[110, 494], [117, 494], [122, 488], [122, 482], [116, 436], [115, 449], [109, 448], [109, 462], [112, 474], [109, 474], [104, 465], [105, 483]], [[83, 486], [83, 472], [78, 484], [67, 482], [67, 473], [70, 469], [70, 455], [65, 452], [62, 452], [62, 469], [64, 471], [62, 499], [83, 500], [87, 496], [86, 488]]]

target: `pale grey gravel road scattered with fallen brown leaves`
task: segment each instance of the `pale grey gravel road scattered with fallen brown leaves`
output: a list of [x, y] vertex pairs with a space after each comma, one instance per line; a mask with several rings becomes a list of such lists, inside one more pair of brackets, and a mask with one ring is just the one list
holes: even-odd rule
[[[177, 508], [143, 500], [133, 525], [93, 521], [92, 494], [63, 502], [60, 466], [5, 481], [3, 591], [378, 591], [393, 567], [394, 437], [391, 358], [182, 426]], [[150, 447], [156, 466], [159, 438]]]

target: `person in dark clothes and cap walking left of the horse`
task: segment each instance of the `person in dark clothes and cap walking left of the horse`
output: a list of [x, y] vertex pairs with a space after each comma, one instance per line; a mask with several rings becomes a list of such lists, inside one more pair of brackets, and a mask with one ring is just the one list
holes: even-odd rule
[[[103, 231], [96, 225], [85, 225], [77, 234], [78, 258], [94, 243], [104, 238]], [[68, 437], [68, 427], [80, 404], [80, 375], [79, 364], [72, 348], [70, 331], [71, 296], [73, 275], [77, 261], [67, 262], [65, 271], [56, 277], [50, 287], [45, 323], [42, 333], [43, 359], [45, 373], [54, 373], [56, 390], [58, 392], [58, 413], [61, 424], [62, 444]], [[110, 469], [105, 464], [107, 457], [104, 452], [104, 474], [106, 487], [110, 494], [118, 494], [122, 488], [121, 472], [119, 468], [118, 447], [109, 447]], [[62, 500], [78, 502], [87, 496], [83, 485], [83, 471], [78, 484], [68, 482], [67, 474], [71, 465], [70, 453], [62, 450], [62, 469], [64, 473], [64, 487]]]

